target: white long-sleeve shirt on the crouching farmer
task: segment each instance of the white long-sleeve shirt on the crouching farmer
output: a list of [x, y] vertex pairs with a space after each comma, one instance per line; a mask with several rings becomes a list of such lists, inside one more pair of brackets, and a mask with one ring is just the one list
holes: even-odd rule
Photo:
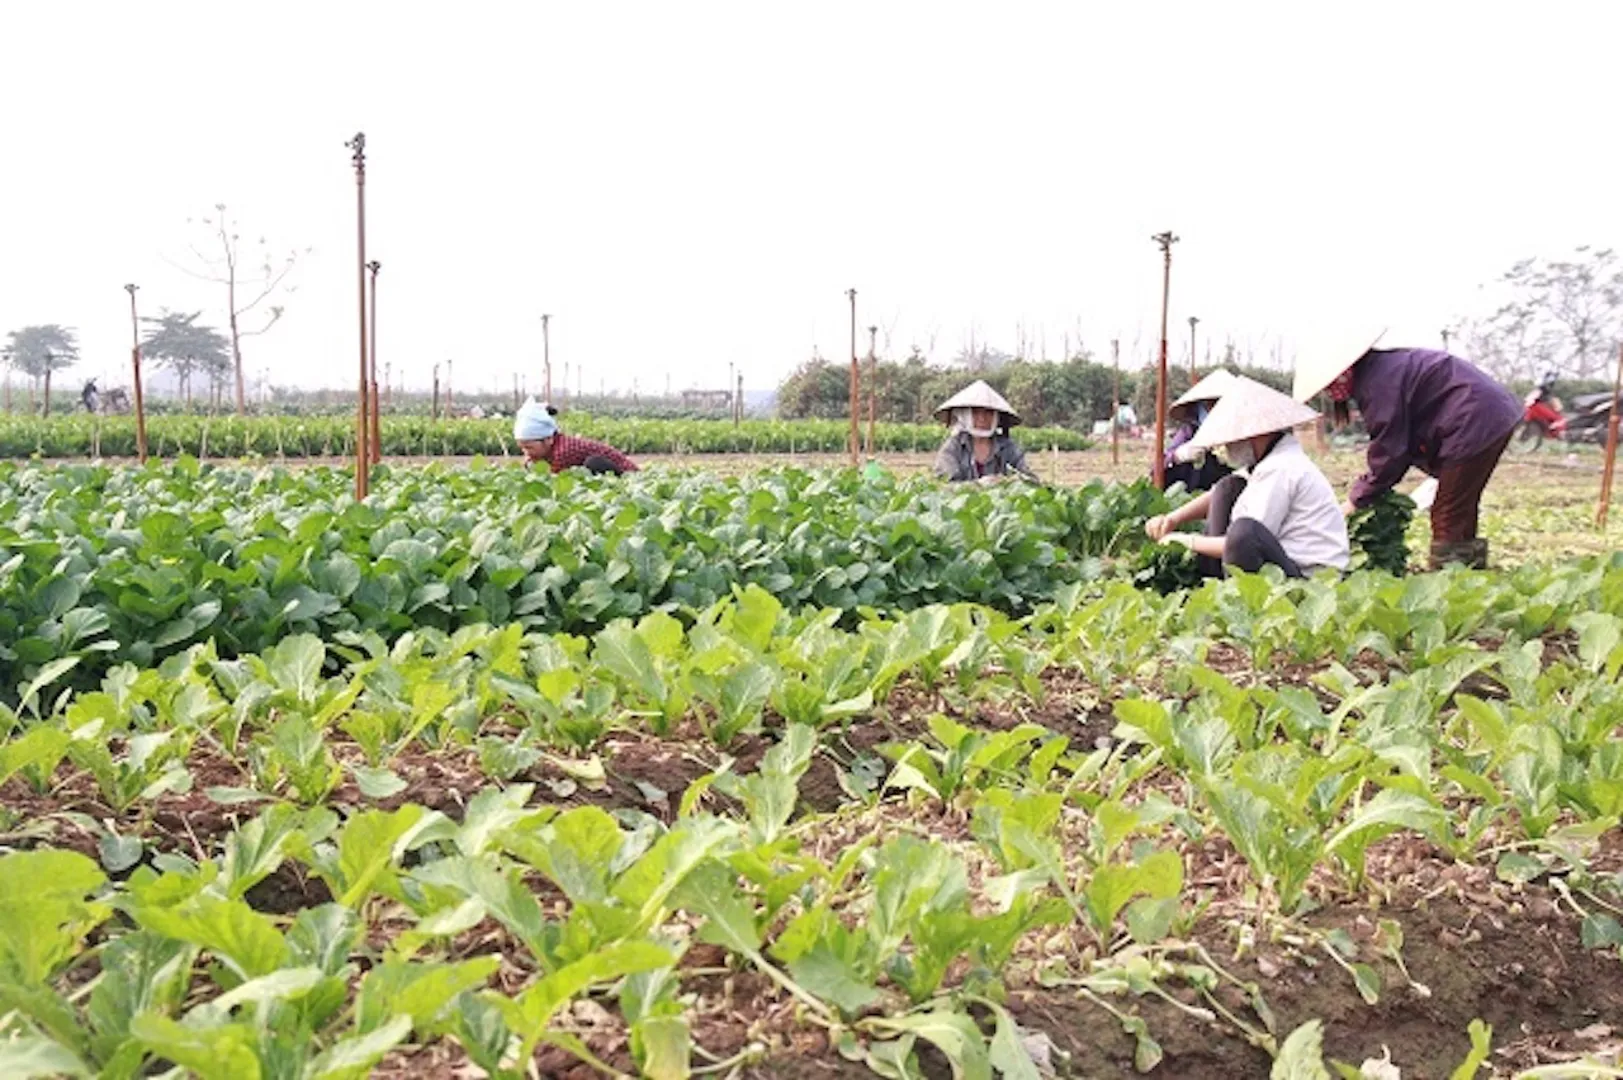
[[1233, 502], [1233, 518], [1266, 526], [1303, 573], [1347, 568], [1347, 518], [1336, 490], [1289, 432], [1251, 466], [1251, 477]]

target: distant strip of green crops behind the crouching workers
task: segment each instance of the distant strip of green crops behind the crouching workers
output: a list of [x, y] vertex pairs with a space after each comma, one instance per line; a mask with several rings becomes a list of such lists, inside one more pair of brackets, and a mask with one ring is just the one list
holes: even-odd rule
[[[562, 417], [573, 435], [599, 438], [626, 453], [828, 453], [844, 450], [844, 421], [725, 421]], [[867, 438], [867, 427], [862, 429]], [[876, 451], [925, 451], [941, 445], [940, 424], [878, 424]], [[1019, 429], [1032, 450], [1081, 450], [1083, 435], [1063, 427]], [[383, 453], [394, 458], [516, 455], [511, 419], [381, 419]], [[151, 416], [148, 450], [156, 456], [331, 458], [354, 455], [355, 422], [342, 416]], [[135, 417], [76, 413], [58, 417], [0, 416], [0, 458], [133, 458]]]

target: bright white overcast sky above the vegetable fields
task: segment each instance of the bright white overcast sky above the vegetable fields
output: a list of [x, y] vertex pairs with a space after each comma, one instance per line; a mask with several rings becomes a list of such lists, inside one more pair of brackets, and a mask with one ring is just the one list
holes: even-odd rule
[[75, 326], [115, 383], [127, 281], [222, 323], [164, 257], [224, 201], [315, 248], [250, 380], [352, 385], [364, 130], [380, 362], [419, 387], [536, 388], [550, 312], [555, 385], [768, 388], [846, 356], [852, 286], [898, 356], [1024, 325], [1147, 359], [1162, 229], [1175, 361], [1190, 315], [1259, 361], [1430, 341], [1513, 260], [1623, 244], [1620, 31], [1612, 0], [6, 0], [0, 331]]

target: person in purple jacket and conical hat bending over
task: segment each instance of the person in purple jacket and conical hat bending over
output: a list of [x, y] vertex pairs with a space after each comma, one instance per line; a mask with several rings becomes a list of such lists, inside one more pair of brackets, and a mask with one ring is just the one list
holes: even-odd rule
[[[1352, 484], [1349, 515], [1404, 479], [1409, 466], [1436, 477], [1431, 503], [1431, 568], [1449, 562], [1487, 568], [1488, 542], [1477, 536], [1482, 490], [1522, 417], [1521, 403], [1482, 369], [1440, 349], [1319, 354], [1297, 365], [1297, 401], [1326, 393], [1339, 408], [1358, 403], [1370, 434], [1368, 469]], [[1357, 352], [1352, 362], [1347, 356]]]

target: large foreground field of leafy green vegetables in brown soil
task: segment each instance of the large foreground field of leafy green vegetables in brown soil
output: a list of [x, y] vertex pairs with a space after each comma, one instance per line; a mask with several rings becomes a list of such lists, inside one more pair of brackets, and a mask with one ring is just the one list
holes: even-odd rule
[[1623, 1075], [1623, 557], [1164, 593], [1146, 486], [347, 492], [0, 466], [0, 1075]]

